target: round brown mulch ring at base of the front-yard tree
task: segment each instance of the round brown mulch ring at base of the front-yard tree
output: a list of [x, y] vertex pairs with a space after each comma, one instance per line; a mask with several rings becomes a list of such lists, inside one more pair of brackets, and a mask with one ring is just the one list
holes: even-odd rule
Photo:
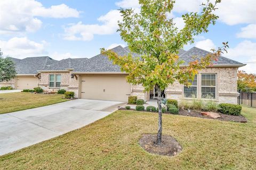
[[143, 134], [139, 140], [139, 144], [151, 154], [165, 156], [175, 156], [182, 150], [177, 140], [167, 135], [162, 135], [161, 146], [156, 145], [156, 134]]

